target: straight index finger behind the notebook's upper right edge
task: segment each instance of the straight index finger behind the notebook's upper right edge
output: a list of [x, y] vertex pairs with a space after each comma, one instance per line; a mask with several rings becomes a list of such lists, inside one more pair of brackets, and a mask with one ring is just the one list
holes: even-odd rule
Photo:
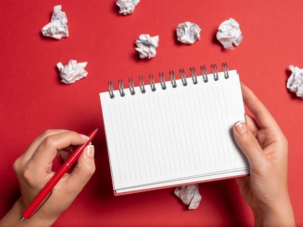
[[269, 128], [269, 127], [277, 126], [275, 119], [271, 116], [268, 109], [264, 106], [263, 103], [261, 103], [261, 101], [255, 96], [255, 94], [243, 83], [241, 83], [241, 90], [242, 90], [243, 101], [245, 102], [250, 112], [254, 115], [258, 125], [261, 128]]

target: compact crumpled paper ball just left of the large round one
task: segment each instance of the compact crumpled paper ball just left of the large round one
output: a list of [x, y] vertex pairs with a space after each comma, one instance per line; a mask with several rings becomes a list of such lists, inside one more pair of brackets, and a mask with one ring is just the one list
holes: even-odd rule
[[192, 44], [200, 39], [200, 31], [198, 25], [191, 22], [180, 23], [177, 28], [177, 39], [181, 43]]

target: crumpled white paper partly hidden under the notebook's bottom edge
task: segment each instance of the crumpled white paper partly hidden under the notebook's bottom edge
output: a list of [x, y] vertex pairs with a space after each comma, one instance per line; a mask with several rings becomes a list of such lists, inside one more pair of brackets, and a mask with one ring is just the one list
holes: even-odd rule
[[188, 209], [196, 209], [202, 198], [197, 184], [178, 186], [175, 189], [175, 195], [178, 196], [185, 205], [189, 205]]

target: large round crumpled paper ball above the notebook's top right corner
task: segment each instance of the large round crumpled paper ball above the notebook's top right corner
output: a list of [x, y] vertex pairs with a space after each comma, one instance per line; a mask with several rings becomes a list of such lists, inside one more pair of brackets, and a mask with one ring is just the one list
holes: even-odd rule
[[229, 18], [229, 20], [223, 21], [221, 23], [218, 28], [216, 37], [226, 49], [234, 49], [232, 44], [238, 46], [243, 39], [239, 24], [233, 18]]

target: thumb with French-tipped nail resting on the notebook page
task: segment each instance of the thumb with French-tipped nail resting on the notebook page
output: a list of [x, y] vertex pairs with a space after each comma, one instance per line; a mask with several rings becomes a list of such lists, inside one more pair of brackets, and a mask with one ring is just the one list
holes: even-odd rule
[[259, 169], [265, 163], [264, 154], [256, 137], [251, 133], [244, 121], [238, 121], [232, 127], [235, 140], [246, 155], [251, 168]]

